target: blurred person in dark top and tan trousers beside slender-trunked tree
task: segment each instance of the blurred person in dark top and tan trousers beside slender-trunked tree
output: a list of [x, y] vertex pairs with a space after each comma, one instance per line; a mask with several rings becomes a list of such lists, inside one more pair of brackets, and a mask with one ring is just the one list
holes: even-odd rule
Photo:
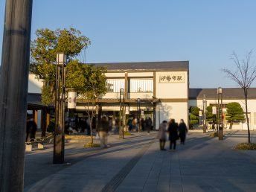
[[109, 132], [109, 122], [106, 120], [106, 117], [100, 119], [100, 122], [97, 126], [97, 132], [100, 137], [100, 147], [107, 147], [107, 138]]

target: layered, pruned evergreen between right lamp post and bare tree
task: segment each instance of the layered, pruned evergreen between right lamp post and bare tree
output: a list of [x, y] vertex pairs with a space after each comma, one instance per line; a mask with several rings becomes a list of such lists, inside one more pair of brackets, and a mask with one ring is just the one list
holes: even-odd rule
[[227, 104], [227, 114], [225, 116], [226, 120], [230, 121], [229, 129], [232, 129], [234, 121], [245, 120], [243, 109], [240, 106], [240, 103], [237, 102]]

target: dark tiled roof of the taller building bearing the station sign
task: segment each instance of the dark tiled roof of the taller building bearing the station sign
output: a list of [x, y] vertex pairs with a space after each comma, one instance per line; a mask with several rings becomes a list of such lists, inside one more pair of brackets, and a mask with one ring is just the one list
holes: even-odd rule
[[96, 66], [106, 66], [108, 71], [151, 70], [159, 71], [169, 69], [173, 71], [188, 71], [188, 61], [164, 61], [164, 62], [134, 62], [134, 63], [91, 63]]

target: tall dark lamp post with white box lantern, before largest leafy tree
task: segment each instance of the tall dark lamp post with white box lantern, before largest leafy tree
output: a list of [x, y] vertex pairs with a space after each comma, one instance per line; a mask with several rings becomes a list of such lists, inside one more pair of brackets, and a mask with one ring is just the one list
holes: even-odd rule
[[65, 65], [66, 65], [65, 54], [57, 53], [56, 92], [55, 92], [54, 164], [62, 164], [64, 162]]

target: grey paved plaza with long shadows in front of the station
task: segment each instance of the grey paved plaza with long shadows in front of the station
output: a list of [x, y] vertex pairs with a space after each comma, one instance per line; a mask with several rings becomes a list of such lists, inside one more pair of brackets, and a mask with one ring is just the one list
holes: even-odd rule
[[176, 151], [160, 151], [156, 135], [110, 135], [106, 149], [68, 143], [65, 164], [52, 164], [52, 145], [26, 153], [25, 191], [255, 191], [256, 151], [233, 149], [246, 132], [225, 132], [224, 141], [189, 132]]

